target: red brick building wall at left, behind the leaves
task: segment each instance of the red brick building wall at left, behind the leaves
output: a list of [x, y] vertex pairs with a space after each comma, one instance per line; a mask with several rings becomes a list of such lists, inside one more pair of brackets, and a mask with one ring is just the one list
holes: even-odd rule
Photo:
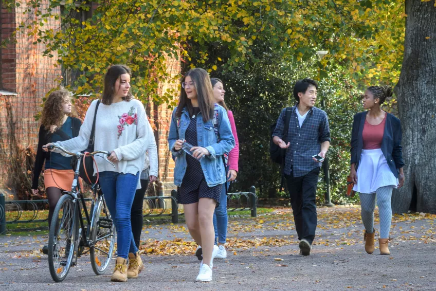
[[[0, 7], [1, 40], [5, 40], [15, 31], [17, 24], [24, 21], [25, 3], [8, 11]], [[46, 9], [47, 4], [40, 9]], [[59, 12], [60, 13], [60, 12]], [[35, 16], [33, 16], [35, 17]], [[29, 21], [33, 19], [30, 18]], [[59, 21], [50, 20], [44, 28], [58, 29]], [[42, 98], [53, 87], [59, 85], [62, 76], [60, 66], [56, 67], [57, 56], [43, 57], [45, 46], [41, 43], [33, 44], [36, 37], [28, 37], [27, 29], [16, 34], [16, 42], [0, 49], [0, 193], [8, 192], [8, 162], [12, 147], [24, 150], [35, 148], [38, 142], [39, 122], [35, 120], [41, 110]], [[168, 73], [177, 76], [180, 63], [176, 59], [168, 59]], [[174, 86], [168, 83], [160, 84], [160, 92]], [[155, 136], [158, 144], [159, 180], [163, 182], [167, 195], [174, 189], [174, 162], [168, 152], [168, 130], [172, 109], [167, 104], [146, 104], [151, 110], [149, 117], [155, 123]], [[10, 108], [8, 111], [7, 108]], [[12, 117], [11, 117], [12, 116]], [[9, 129], [8, 129], [8, 120]], [[11, 143], [13, 136], [17, 144]], [[31, 174], [30, 174], [31, 175]], [[6, 191], [5, 191], [6, 190]]]

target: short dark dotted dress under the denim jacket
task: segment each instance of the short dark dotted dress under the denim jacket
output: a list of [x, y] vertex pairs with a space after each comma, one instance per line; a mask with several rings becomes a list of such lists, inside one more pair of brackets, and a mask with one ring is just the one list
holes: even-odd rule
[[[194, 107], [194, 115], [186, 129], [185, 139], [193, 147], [197, 147], [197, 114], [199, 108]], [[208, 157], [204, 157], [205, 159]], [[178, 189], [177, 201], [180, 204], [197, 203], [199, 198], [212, 198], [216, 201], [216, 206], [220, 203], [221, 189], [223, 185], [213, 187], [207, 186], [200, 162], [194, 157], [186, 154], [186, 173]]]

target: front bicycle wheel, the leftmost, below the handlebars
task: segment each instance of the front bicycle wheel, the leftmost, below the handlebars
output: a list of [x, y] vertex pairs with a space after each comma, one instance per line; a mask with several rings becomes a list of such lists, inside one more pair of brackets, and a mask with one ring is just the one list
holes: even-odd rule
[[48, 268], [51, 278], [62, 282], [74, 258], [79, 234], [78, 216], [73, 198], [64, 194], [54, 208], [48, 235]]

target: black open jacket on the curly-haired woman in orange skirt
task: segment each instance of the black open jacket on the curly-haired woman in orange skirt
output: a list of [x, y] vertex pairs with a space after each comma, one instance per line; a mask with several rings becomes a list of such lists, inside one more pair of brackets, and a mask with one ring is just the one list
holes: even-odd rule
[[[72, 130], [72, 137], [76, 137], [79, 135], [80, 126], [82, 125], [82, 121], [80, 119], [71, 117], [71, 130]], [[54, 133], [63, 136], [62, 133], [60, 133], [61, 130], [58, 129]], [[51, 142], [51, 137], [53, 136], [53, 133], [50, 133], [48, 130], [44, 128], [44, 125], [41, 124], [40, 126], [40, 132], [38, 134], [38, 149], [37, 149], [37, 156], [35, 157], [35, 167], [33, 169], [33, 181], [32, 181], [32, 189], [38, 189], [38, 181], [40, 178], [41, 170], [44, 165], [45, 160], [50, 160], [50, 152], [45, 152], [42, 149], [42, 146]]]

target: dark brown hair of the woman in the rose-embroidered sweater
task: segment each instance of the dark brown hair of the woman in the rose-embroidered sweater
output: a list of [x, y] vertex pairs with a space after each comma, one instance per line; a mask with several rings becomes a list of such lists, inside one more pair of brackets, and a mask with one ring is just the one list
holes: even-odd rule
[[[132, 76], [131, 70], [128, 66], [124, 65], [113, 65], [107, 69], [106, 75], [104, 75], [104, 88], [103, 94], [101, 96], [101, 102], [105, 105], [111, 105], [114, 101], [114, 95], [118, 88], [115, 88], [115, 82], [120, 78], [122, 74], [129, 74]], [[132, 93], [129, 93], [126, 97], [122, 98], [125, 101], [130, 101], [133, 99]]]

